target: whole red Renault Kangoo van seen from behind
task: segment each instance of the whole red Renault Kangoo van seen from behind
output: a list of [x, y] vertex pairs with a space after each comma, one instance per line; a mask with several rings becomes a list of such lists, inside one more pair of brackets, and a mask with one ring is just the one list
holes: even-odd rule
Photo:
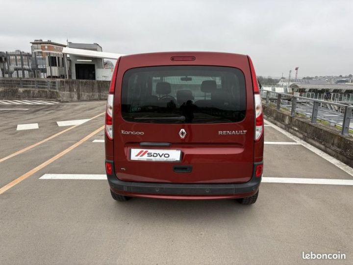
[[263, 170], [259, 92], [247, 55], [120, 57], [105, 115], [112, 197], [254, 203]]

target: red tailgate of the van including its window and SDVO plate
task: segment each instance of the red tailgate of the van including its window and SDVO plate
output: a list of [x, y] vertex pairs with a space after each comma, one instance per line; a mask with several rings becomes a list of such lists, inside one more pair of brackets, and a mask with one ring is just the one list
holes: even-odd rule
[[159, 183], [249, 181], [254, 109], [249, 63], [242, 66], [179, 62], [120, 73], [113, 124], [117, 177]]

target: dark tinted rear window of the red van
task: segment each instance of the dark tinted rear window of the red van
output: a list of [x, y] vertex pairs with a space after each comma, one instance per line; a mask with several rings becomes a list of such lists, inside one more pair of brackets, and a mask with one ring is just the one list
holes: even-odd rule
[[122, 116], [143, 123], [231, 123], [245, 118], [242, 71], [217, 66], [158, 66], [126, 71]]

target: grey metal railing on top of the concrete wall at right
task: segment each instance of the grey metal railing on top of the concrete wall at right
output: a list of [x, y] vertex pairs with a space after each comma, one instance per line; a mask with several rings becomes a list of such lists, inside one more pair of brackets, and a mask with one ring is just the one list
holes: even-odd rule
[[265, 99], [266, 106], [272, 103], [278, 110], [281, 107], [286, 108], [291, 111], [292, 117], [299, 114], [309, 116], [311, 123], [317, 123], [318, 120], [326, 121], [335, 127], [342, 127], [342, 135], [353, 132], [353, 125], [351, 126], [353, 106], [351, 105], [266, 90], [261, 91], [261, 96]]

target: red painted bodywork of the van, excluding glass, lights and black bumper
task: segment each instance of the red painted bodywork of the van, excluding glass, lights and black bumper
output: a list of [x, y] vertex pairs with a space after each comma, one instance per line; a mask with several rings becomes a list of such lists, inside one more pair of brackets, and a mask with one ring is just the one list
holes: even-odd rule
[[[171, 60], [172, 56], [194, 56], [193, 61]], [[170, 52], [127, 55], [117, 62], [113, 108], [113, 140], [105, 136], [106, 160], [114, 162], [114, 173], [121, 181], [175, 184], [237, 184], [249, 182], [253, 176], [254, 162], [263, 160], [263, 133], [254, 141], [255, 114], [252, 76], [247, 55], [233, 53]], [[240, 69], [245, 77], [246, 116], [235, 123], [217, 124], [156, 124], [133, 123], [123, 119], [121, 93], [127, 70], [151, 66], [225, 66]], [[178, 132], [187, 134], [181, 139]], [[122, 131], [144, 132], [143, 135], [122, 134]], [[220, 131], [246, 131], [245, 134], [220, 135]], [[131, 148], [141, 148], [141, 142], [167, 142], [163, 149], [181, 150], [180, 162], [130, 160]], [[160, 149], [148, 147], [148, 149]], [[192, 165], [191, 173], [176, 173], [173, 165]], [[112, 189], [114, 190], [114, 189]], [[126, 196], [169, 199], [240, 198], [246, 194], [188, 196], [134, 194], [116, 191]]]

